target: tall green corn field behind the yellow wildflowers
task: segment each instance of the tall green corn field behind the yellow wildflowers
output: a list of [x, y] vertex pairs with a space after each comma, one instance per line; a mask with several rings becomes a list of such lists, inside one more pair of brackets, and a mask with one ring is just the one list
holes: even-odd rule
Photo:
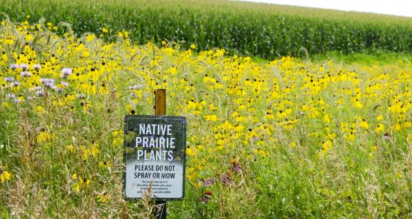
[[[102, 27], [129, 31], [133, 42], [178, 42], [198, 50], [273, 59], [340, 51], [412, 51], [412, 18], [315, 10], [229, 1], [3, 0], [0, 11], [12, 21], [71, 23], [76, 33], [100, 34]], [[108, 36], [106, 37], [108, 40]]]

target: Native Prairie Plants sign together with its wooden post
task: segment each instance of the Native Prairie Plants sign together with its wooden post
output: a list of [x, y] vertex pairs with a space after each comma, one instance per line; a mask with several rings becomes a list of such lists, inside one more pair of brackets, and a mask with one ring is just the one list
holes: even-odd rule
[[166, 200], [185, 193], [186, 118], [165, 116], [165, 90], [155, 95], [155, 116], [124, 117], [124, 190], [126, 198], [141, 198], [151, 183], [155, 216], [166, 218]]

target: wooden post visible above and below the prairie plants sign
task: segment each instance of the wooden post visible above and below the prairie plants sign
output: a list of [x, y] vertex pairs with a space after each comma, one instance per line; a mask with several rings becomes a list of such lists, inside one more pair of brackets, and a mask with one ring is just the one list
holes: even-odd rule
[[[165, 115], [166, 114], [166, 90], [157, 89], [155, 90], [155, 115]], [[166, 219], [166, 201], [157, 200], [155, 216], [157, 219]]]

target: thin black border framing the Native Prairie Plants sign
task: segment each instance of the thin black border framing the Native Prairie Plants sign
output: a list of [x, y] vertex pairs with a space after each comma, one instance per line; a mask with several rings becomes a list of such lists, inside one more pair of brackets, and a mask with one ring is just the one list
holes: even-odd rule
[[127, 200], [136, 200], [136, 199], [141, 199], [141, 198], [130, 198], [126, 197], [126, 161], [127, 161], [127, 143], [126, 143], [126, 135], [128, 133], [128, 119], [130, 118], [152, 118], [153, 120], [167, 120], [167, 119], [177, 119], [177, 120], [183, 120], [183, 188], [182, 188], [182, 196], [181, 198], [156, 198], [153, 197], [151, 199], [153, 200], [162, 200], [162, 201], [179, 201], [185, 198], [185, 184], [186, 184], [186, 140], [187, 140], [187, 120], [185, 116], [165, 116], [165, 115], [131, 115], [127, 114], [124, 116], [124, 123], [123, 123], [123, 164], [124, 164], [124, 171], [123, 171], [123, 195], [124, 199]]

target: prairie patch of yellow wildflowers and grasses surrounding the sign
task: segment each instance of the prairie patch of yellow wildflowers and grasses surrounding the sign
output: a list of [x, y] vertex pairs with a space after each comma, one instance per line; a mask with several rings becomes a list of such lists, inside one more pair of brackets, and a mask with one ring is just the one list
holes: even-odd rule
[[411, 67], [258, 64], [53, 27], [1, 21], [3, 217], [146, 214], [124, 201], [122, 120], [153, 114], [158, 88], [187, 118], [170, 217], [411, 217]]

